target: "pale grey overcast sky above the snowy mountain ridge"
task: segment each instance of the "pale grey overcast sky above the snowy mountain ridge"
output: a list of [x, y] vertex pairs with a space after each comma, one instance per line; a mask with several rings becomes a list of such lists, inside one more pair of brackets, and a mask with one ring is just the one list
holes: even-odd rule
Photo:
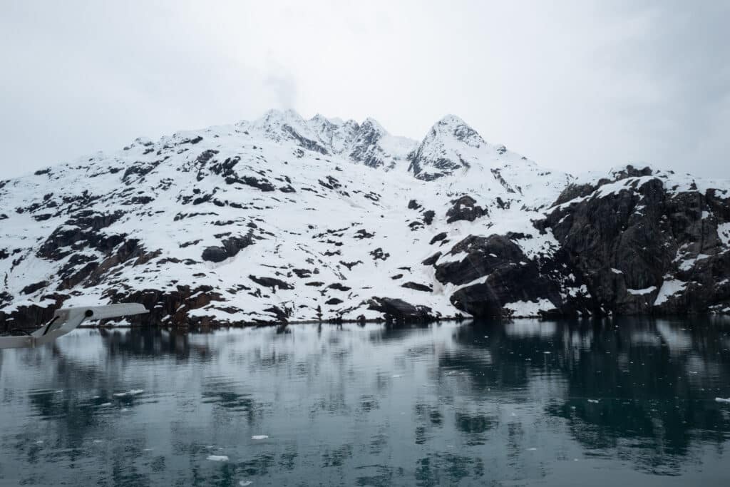
[[730, 1], [0, 7], [0, 179], [269, 108], [415, 139], [453, 113], [555, 169], [730, 177]]

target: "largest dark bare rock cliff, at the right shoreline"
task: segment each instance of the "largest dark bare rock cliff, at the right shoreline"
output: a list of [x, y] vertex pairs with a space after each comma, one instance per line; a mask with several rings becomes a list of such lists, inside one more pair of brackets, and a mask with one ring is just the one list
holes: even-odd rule
[[597, 312], [725, 309], [730, 256], [718, 232], [730, 199], [715, 189], [675, 191], [651, 175], [628, 166], [614, 180], [566, 188], [543, 224], [585, 277]]

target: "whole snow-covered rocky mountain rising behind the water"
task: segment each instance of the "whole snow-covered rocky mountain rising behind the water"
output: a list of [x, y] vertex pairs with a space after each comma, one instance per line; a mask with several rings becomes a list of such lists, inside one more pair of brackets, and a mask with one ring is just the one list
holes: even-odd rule
[[293, 111], [0, 182], [0, 324], [730, 311], [729, 181], [550, 171], [448, 115], [422, 141]]

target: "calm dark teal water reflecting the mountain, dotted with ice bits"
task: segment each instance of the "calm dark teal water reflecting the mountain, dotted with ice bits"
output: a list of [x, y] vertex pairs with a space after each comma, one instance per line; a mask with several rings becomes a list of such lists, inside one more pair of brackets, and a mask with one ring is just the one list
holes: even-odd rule
[[0, 485], [726, 486], [717, 396], [721, 319], [85, 329], [0, 352]]

